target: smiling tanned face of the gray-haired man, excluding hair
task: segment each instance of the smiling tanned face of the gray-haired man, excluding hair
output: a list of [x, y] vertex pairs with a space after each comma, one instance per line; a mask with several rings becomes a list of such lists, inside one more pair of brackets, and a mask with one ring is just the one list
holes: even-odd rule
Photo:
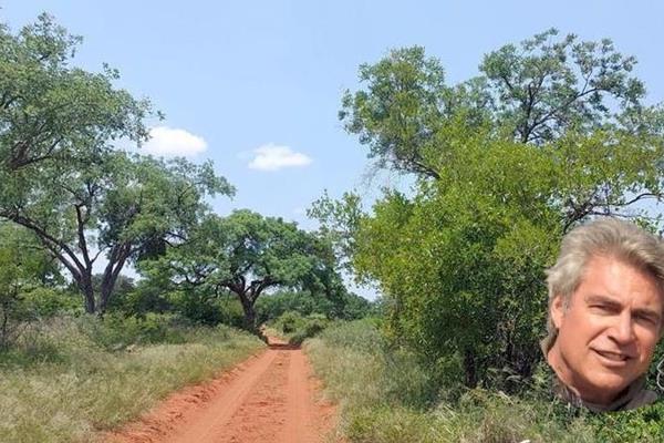
[[551, 306], [559, 331], [549, 360], [562, 382], [592, 403], [615, 399], [647, 371], [662, 298], [651, 275], [612, 257], [592, 258], [569, 305], [558, 297]]

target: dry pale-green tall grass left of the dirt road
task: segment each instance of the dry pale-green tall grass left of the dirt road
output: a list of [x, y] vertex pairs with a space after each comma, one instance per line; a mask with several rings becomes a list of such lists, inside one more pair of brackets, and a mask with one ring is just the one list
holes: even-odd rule
[[263, 343], [227, 327], [59, 318], [0, 353], [0, 442], [94, 442]]

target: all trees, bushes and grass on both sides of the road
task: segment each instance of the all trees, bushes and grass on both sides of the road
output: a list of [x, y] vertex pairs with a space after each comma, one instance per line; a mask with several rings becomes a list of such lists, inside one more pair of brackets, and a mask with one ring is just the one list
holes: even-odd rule
[[550, 30], [455, 85], [418, 47], [362, 65], [340, 119], [413, 186], [370, 209], [324, 195], [318, 231], [221, 217], [208, 198], [235, 188], [210, 163], [116, 148], [160, 114], [73, 66], [80, 41], [48, 14], [0, 27], [0, 440], [90, 441], [260, 349], [228, 326], [264, 322], [313, 337], [351, 442], [662, 440], [662, 403], [595, 416], [540, 389], [561, 236], [600, 215], [662, 228], [644, 203], [664, 195], [664, 109], [611, 41]]

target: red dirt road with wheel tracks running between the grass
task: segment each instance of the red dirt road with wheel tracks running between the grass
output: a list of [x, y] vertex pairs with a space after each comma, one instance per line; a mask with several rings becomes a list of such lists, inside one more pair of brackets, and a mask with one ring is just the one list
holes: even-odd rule
[[168, 398], [108, 443], [323, 443], [334, 406], [300, 349], [270, 339], [267, 351], [209, 383]]

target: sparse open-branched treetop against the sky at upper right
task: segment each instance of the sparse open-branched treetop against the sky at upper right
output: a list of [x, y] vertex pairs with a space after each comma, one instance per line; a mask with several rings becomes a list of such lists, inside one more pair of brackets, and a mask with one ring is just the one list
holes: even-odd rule
[[570, 128], [588, 133], [645, 123], [645, 86], [631, 76], [634, 56], [616, 52], [609, 39], [579, 41], [568, 34], [556, 41], [557, 35], [551, 29], [484, 58], [479, 70], [499, 124], [521, 143], [541, 144]]

